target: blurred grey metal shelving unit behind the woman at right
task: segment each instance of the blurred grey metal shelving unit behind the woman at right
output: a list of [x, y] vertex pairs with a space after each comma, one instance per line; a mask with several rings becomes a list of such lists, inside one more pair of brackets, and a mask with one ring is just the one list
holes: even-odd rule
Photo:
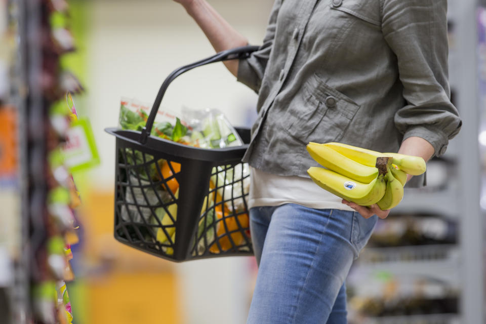
[[[351, 291], [366, 291], [363, 278], [385, 274], [394, 298], [400, 295], [397, 282], [424, 280], [440, 282], [446, 290], [457, 291], [457, 311], [436, 314], [355, 317], [356, 323], [484, 323], [484, 213], [480, 209], [481, 174], [479, 159], [480, 105], [478, 87], [477, 8], [474, 0], [449, 0], [449, 75], [453, 100], [463, 121], [459, 135], [450, 142], [443, 158], [448, 163], [443, 188], [408, 189], [400, 205], [392, 211], [402, 215], [430, 215], [458, 225], [456, 244], [365, 248], [348, 279]], [[484, 94], [483, 94], [484, 95]], [[482, 108], [484, 109], [484, 108]], [[432, 173], [432, 172], [431, 172]], [[386, 221], [386, 220], [385, 220]], [[371, 239], [371, 241], [373, 238]], [[395, 281], [393, 281], [395, 280]], [[390, 284], [391, 282], [391, 284]], [[394, 286], [395, 285], [395, 286]], [[386, 286], [386, 285], [384, 285]], [[411, 284], [408, 290], [416, 290]], [[405, 290], [407, 290], [405, 289]], [[373, 290], [373, 289], [372, 289]], [[376, 293], [376, 291], [375, 291]], [[387, 294], [383, 293], [383, 294]], [[366, 292], [364, 293], [366, 294]], [[380, 292], [379, 294], [382, 294]], [[376, 297], [376, 295], [374, 296]], [[383, 297], [383, 296], [382, 296]], [[390, 298], [385, 296], [384, 299]], [[351, 302], [351, 314], [353, 303]]]

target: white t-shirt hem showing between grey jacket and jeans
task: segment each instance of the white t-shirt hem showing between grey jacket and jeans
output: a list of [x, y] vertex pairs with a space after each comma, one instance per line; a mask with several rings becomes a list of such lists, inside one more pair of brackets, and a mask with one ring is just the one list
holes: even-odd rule
[[276, 176], [254, 168], [250, 170], [248, 208], [294, 203], [315, 209], [354, 211], [341, 203], [340, 197], [320, 188], [310, 178]]

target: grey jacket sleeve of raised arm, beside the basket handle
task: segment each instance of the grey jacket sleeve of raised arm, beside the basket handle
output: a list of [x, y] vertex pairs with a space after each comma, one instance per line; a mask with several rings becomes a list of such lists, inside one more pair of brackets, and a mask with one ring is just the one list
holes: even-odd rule
[[276, 0], [270, 13], [270, 19], [266, 29], [263, 45], [253, 52], [247, 59], [241, 59], [238, 63], [237, 80], [258, 93], [262, 84], [263, 73], [267, 66], [270, 51], [275, 36], [276, 20], [282, 0]]

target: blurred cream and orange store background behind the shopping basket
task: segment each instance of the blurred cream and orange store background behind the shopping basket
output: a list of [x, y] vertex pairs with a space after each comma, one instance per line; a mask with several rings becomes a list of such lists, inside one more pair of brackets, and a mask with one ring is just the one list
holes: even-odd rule
[[[251, 258], [173, 264], [125, 247], [112, 234], [115, 141], [103, 130], [117, 125], [120, 97], [151, 104], [172, 70], [213, 55], [213, 48], [173, 1], [84, 3], [88, 76], [78, 106], [91, 120], [101, 165], [83, 175], [85, 256], [78, 262], [83, 288], [72, 297], [75, 318], [77, 311], [90, 324], [245, 322], [255, 273]], [[271, 0], [210, 3], [251, 44], [261, 44]], [[256, 100], [217, 63], [180, 76], [162, 106], [217, 108], [233, 125], [249, 126]]]

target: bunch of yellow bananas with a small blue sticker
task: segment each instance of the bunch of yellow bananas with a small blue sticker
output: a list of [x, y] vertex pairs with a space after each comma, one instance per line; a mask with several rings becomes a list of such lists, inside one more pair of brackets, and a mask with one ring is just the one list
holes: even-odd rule
[[307, 151], [326, 168], [307, 170], [316, 184], [358, 205], [377, 204], [382, 210], [400, 203], [407, 174], [421, 175], [426, 169], [419, 156], [380, 153], [342, 143], [310, 142]]

